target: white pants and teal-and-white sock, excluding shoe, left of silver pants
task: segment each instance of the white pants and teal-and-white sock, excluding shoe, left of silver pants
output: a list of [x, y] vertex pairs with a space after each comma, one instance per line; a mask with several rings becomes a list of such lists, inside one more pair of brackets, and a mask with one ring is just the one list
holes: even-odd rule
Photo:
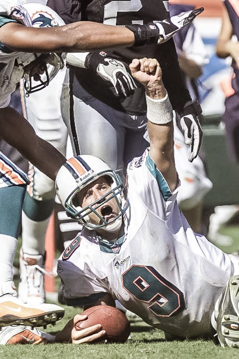
[[[66, 69], [60, 70], [46, 88], [30, 94], [28, 98], [24, 97], [25, 116], [37, 135], [63, 154], [66, 151], [67, 140], [67, 128], [61, 116], [61, 92], [65, 72]], [[43, 254], [44, 251], [45, 233], [49, 214], [53, 208], [55, 186], [54, 181], [31, 164], [29, 177], [31, 183], [27, 191], [30, 197], [25, 199], [22, 219], [23, 252], [37, 255]], [[35, 208], [35, 213], [31, 213], [34, 205], [42, 207], [46, 205], [46, 215], [41, 214], [44, 212], [42, 208], [40, 210]]]

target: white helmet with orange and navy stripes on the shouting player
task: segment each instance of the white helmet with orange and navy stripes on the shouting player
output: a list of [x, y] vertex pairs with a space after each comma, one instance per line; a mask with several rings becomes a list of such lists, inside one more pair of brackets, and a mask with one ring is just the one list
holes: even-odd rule
[[[111, 191], [107, 193], [107, 196], [101, 197], [85, 208], [74, 204], [76, 194], [102, 176], [110, 177]], [[107, 232], [115, 232], [120, 229], [122, 216], [129, 206], [125, 186], [119, 175], [103, 160], [92, 155], [81, 155], [67, 160], [57, 173], [56, 193], [67, 214], [88, 229], [103, 228]], [[103, 212], [109, 213], [108, 211], [112, 210], [110, 206], [107, 206], [107, 201], [112, 198], [115, 198], [119, 206], [119, 214], [107, 221]], [[104, 204], [105, 206], [102, 207]], [[96, 211], [99, 207], [101, 207], [101, 214]], [[99, 224], [91, 222], [90, 213], [97, 215], [100, 219]]]

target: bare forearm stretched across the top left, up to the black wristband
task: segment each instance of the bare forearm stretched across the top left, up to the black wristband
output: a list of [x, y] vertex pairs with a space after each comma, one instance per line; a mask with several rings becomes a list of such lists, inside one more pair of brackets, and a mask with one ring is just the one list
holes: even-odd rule
[[0, 40], [14, 51], [77, 52], [104, 47], [132, 46], [134, 34], [125, 27], [93, 22], [76, 22], [41, 29], [8, 23], [0, 28]]

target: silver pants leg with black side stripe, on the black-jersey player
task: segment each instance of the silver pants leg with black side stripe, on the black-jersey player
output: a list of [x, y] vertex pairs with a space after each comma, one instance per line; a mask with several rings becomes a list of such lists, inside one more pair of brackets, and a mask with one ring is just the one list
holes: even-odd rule
[[74, 154], [95, 155], [121, 172], [125, 141], [123, 113], [77, 86], [77, 96], [70, 93], [70, 118], [66, 119]]

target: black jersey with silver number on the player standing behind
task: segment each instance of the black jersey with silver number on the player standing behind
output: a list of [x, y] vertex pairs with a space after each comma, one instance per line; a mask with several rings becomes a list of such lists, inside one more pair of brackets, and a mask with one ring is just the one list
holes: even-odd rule
[[[66, 23], [82, 20], [108, 25], [147, 24], [153, 20], [169, 18], [168, 1], [162, 0], [48, 0], [47, 5], [55, 10]], [[104, 50], [109, 52], [111, 57], [125, 61], [127, 64], [130, 64], [134, 58], [156, 58], [161, 65], [163, 82], [173, 108], [179, 112], [183, 105], [190, 101], [172, 39], [161, 45]], [[146, 113], [142, 85], [139, 85], [139, 89], [132, 96], [119, 101], [108, 88], [106, 81], [95, 76], [91, 71], [77, 68], [75, 78], [87, 92], [119, 111], [134, 114]]]

